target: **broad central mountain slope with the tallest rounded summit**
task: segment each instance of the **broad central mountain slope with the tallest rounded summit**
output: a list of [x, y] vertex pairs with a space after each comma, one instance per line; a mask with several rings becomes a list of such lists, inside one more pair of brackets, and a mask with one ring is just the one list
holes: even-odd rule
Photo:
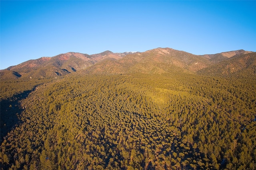
[[131, 53], [118, 61], [100, 62], [86, 71], [90, 73], [170, 73], [198, 71], [208, 67], [207, 59], [171, 48], [156, 48]]

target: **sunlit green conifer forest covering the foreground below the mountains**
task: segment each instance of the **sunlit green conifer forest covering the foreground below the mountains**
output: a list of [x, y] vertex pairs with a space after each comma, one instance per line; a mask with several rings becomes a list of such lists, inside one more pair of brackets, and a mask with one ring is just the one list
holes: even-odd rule
[[1, 82], [2, 170], [256, 168], [255, 78], [21, 80]]

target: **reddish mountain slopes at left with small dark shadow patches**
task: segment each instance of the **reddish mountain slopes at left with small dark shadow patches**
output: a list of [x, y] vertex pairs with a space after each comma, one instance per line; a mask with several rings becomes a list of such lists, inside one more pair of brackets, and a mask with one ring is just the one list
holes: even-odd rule
[[120, 59], [125, 53], [105, 51], [100, 54], [88, 55], [68, 52], [54, 57], [41, 57], [0, 71], [1, 79], [56, 77], [86, 69], [104, 59]]

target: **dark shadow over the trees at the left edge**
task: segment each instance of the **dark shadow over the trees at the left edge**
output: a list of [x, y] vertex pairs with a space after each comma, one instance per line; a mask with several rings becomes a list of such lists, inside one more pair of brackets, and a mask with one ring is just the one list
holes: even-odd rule
[[9, 99], [0, 101], [0, 142], [4, 140], [4, 136], [12, 130], [12, 128], [18, 126], [21, 122], [19, 115], [24, 109], [20, 107], [20, 100], [28, 97], [29, 93], [34, 91], [36, 86], [32, 90], [24, 91], [10, 97]]

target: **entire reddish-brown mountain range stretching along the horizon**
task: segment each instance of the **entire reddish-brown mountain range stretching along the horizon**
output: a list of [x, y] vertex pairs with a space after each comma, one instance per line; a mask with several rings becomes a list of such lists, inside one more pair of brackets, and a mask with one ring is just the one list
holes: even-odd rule
[[172, 48], [156, 48], [145, 52], [102, 53], [88, 55], [68, 52], [54, 57], [41, 57], [1, 70], [2, 80], [58, 77], [82, 71], [89, 74], [177, 73], [179, 71], [217, 76], [234, 73], [255, 75], [256, 53], [228, 51], [194, 55]]

